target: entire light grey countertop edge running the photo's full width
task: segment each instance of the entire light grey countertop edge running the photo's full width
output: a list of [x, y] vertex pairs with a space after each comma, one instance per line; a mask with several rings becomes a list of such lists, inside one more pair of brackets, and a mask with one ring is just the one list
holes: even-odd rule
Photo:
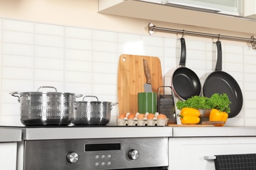
[[[21, 137], [22, 133], [22, 137]], [[256, 127], [9, 127], [0, 128], [0, 142], [47, 139], [129, 137], [256, 137]]]

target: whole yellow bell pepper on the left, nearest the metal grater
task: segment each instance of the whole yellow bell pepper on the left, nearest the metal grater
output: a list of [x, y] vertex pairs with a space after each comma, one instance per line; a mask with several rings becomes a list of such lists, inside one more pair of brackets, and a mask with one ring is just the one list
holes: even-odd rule
[[197, 109], [184, 107], [178, 116], [181, 117], [181, 124], [198, 124], [200, 122], [200, 112]]

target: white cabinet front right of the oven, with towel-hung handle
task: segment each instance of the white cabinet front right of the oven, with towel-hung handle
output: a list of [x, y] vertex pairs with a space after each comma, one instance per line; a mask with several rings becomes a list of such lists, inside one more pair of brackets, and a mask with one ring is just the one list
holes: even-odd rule
[[215, 170], [204, 156], [256, 153], [256, 137], [169, 138], [169, 169]]

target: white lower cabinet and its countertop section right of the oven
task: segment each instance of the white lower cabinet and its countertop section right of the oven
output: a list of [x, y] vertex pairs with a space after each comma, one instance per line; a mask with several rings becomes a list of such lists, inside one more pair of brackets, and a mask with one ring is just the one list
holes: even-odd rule
[[250, 127], [173, 127], [169, 138], [169, 169], [215, 170], [204, 156], [256, 153], [255, 129]]

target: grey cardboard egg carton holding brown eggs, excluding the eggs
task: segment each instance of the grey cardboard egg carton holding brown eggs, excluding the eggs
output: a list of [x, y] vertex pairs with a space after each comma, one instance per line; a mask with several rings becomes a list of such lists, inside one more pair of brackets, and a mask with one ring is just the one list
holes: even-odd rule
[[125, 118], [123, 119], [117, 119], [117, 126], [167, 126], [168, 118], [165, 119], [158, 119], [159, 113], [155, 113], [155, 117], [153, 119], [147, 119], [148, 112], [145, 114], [145, 118], [138, 119], [137, 116], [139, 115], [139, 112], [135, 114], [135, 118], [128, 119], [129, 112], [127, 112]]

